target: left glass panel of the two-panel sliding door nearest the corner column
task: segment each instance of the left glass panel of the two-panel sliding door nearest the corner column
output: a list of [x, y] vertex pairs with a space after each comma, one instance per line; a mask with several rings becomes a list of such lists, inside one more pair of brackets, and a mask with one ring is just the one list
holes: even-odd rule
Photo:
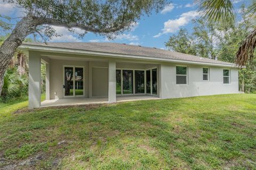
[[65, 96], [73, 96], [73, 67], [64, 68]]

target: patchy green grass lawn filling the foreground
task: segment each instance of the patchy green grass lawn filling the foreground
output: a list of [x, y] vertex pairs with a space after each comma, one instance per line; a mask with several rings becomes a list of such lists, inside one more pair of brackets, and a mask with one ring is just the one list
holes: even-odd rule
[[256, 169], [256, 95], [0, 107], [0, 169]]

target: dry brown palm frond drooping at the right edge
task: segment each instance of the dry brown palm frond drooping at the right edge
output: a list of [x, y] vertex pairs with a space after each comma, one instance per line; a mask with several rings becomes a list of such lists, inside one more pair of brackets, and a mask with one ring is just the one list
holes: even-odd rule
[[254, 29], [249, 36], [243, 41], [236, 53], [236, 64], [239, 67], [245, 66], [253, 59], [253, 52], [256, 47], [256, 29]]

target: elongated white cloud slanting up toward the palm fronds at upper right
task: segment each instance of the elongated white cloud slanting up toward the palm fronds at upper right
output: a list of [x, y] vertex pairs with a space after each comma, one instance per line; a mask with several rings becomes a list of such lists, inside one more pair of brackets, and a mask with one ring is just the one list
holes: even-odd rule
[[168, 20], [164, 22], [164, 28], [161, 32], [154, 36], [154, 38], [160, 37], [166, 33], [173, 33], [180, 29], [180, 27], [188, 24], [191, 20], [199, 15], [197, 11], [189, 11], [180, 15], [180, 18], [175, 20]]

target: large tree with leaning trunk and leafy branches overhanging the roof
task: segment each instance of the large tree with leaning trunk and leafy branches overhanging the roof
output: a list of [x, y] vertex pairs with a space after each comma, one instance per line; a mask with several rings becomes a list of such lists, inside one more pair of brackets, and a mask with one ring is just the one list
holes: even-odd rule
[[[114, 38], [118, 33], [129, 30], [142, 15], [158, 12], [167, 4], [166, 0], [3, 0], [19, 7], [24, 16], [11, 27], [1, 21], [2, 29], [11, 29], [10, 36], [0, 46], [0, 94], [3, 76], [10, 65], [15, 49], [25, 38], [37, 33], [42, 38], [58, 36], [53, 25], [84, 30]], [[5, 18], [10, 19], [10, 16]], [[45, 35], [43, 36], [42, 35]]]

